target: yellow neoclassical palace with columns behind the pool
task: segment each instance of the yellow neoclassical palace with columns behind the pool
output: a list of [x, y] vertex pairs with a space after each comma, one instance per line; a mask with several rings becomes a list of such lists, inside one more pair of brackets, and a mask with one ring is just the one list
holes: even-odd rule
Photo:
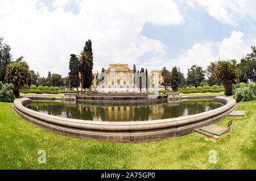
[[[138, 87], [135, 86], [134, 70], [129, 68], [128, 64], [110, 64], [108, 69], [104, 69], [104, 74], [93, 73], [92, 90], [98, 91], [121, 91], [121, 92], [138, 92]], [[146, 74], [145, 74], [146, 75]], [[141, 76], [138, 75], [138, 76]], [[104, 77], [104, 80], [102, 80]], [[97, 84], [97, 78], [102, 81]], [[163, 82], [160, 70], [152, 70], [148, 73], [148, 87], [151, 89], [159, 89]], [[142, 90], [143, 92], [146, 91]]]

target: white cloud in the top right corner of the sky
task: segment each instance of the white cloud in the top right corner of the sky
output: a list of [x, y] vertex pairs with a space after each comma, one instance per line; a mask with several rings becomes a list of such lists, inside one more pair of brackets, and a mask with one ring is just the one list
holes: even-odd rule
[[204, 6], [209, 15], [222, 23], [237, 26], [238, 20], [250, 16], [256, 20], [256, 1], [255, 0], [196, 0], [201, 6]]

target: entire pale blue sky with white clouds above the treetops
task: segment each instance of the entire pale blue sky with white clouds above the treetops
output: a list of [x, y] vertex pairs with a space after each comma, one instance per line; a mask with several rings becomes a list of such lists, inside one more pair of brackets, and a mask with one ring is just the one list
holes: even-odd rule
[[255, 0], [0, 0], [0, 37], [30, 70], [68, 75], [70, 54], [90, 39], [93, 72], [109, 64], [137, 70], [207, 69], [256, 45]]

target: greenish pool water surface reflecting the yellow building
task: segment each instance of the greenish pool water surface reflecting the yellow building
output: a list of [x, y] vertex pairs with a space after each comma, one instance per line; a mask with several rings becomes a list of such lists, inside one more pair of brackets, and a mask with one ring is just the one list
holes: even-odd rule
[[193, 115], [221, 107], [213, 100], [150, 103], [32, 102], [27, 107], [49, 115], [92, 121], [147, 121]]

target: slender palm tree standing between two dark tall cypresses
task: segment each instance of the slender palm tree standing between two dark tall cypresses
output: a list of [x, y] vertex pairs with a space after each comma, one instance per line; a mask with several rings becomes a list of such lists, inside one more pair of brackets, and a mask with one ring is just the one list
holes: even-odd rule
[[[82, 81], [82, 88], [84, 87], [84, 75], [86, 73], [90, 73], [90, 70], [92, 70], [92, 66], [93, 66], [93, 61], [91, 58], [89, 58], [87, 56], [87, 54], [85, 52], [81, 52], [80, 53], [81, 56], [79, 56], [80, 58], [80, 62], [79, 62], [79, 71], [81, 73], [81, 81]], [[82, 94], [82, 88], [81, 88], [81, 94]]]

